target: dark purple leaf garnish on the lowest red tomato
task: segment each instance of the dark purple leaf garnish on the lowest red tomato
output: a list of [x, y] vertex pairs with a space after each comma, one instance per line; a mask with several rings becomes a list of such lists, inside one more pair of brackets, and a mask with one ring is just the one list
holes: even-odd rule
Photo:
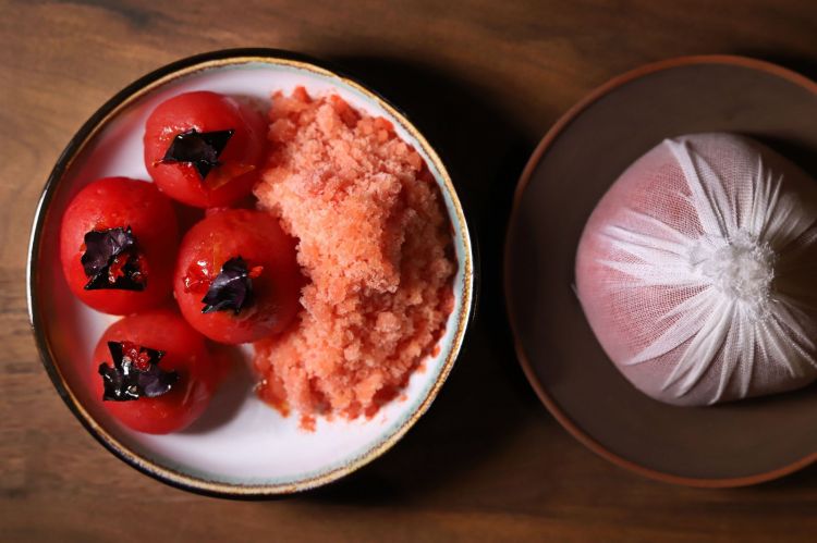
[[164, 371], [159, 362], [164, 356], [163, 350], [139, 347], [142, 353], [149, 356], [146, 370], [139, 370], [130, 358], [124, 356], [124, 348], [120, 342], [108, 342], [108, 350], [113, 359], [113, 367], [99, 365], [105, 392], [102, 399], [107, 402], [133, 402], [141, 397], [154, 398], [167, 394], [179, 381], [179, 373]]

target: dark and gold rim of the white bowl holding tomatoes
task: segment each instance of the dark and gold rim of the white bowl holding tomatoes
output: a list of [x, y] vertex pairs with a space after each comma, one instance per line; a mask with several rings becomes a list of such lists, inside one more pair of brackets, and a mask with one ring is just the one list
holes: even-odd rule
[[[65, 171], [70, 168], [73, 159], [78, 155], [78, 152], [83, 150], [86, 143], [96, 135], [97, 131], [100, 129], [109, 119], [115, 116], [120, 107], [123, 107], [123, 104], [129, 102], [129, 100], [134, 95], [139, 95], [143, 91], [148, 91], [146, 90], [147, 87], [154, 87], [168, 83], [168, 81], [163, 79], [172, 81], [175, 77], [183, 77], [199, 70], [207, 70], [218, 66], [219, 64], [236, 64], [241, 62], [252, 62], [253, 60], [256, 60], [258, 62], [275, 61], [275, 63], [280, 64], [294, 64], [298, 67], [312, 70], [313, 72], [322, 74], [325, 76], [337, 77], [343, 83], [354, 87], [365, 96], [374, 99], [388, 112], [393, 114], [395, 119], [401, 121], [403, 127], [417, 139], [424, 151], [428, 153], [429, 159], [434, 162], [434, 165], [443, 177], [444, 186], [441, 188], [449, 193], [454, 205], [454, 211], [456, 213], [455, 218], [450, 219], [452, 229], [459, 227], [459, 232], [453, 231], [452, 234], [454, 236], [461, 237], [463, 242], [465, 248], [465, 261], [460, 263], [461, 267], [464, 267], [464, 281], [462, 289], [463, 305], [458, 317], [458, 331], [452, 342], [451, 350], [444, 365], [440, 369], [435, 383], [431, 385], [431, 388], [423, 398], [423, 402], [419, 404], [419, 406], [405, 419], [405, 421], [391, 434], [375, 443], [366, 453], [351, 459], [349, 462], [339, 468], [329, 470], [310, 479], [295, 481], [292, 483], [261, 483], [246, 485], [208, 481], [202, 478], [179, 472], [167, 467], [159, 466], [154, 460], [144, 458], [132, 452], [127, 446], [113, 439], [99, 424], [97, 424], [96, 421], [94, 421], [89, 414], [85, 411], [80, 402], [74, 397], [74, 395], [70, 391], [70, 387], [62, 378], [59, 369], [57, 368], [54, 356], [50, 348], [50, 343], [42, 331], [42, 318], [40, 314], [39, 298], [35, 288], [36, 267], [34, 264], [40, 252], [40, 237], [42, 225], [49, 203], [58, 183], [65, 174]], [[439, 158], [434, 147], [428, 143], [428, 140], [426, 140], [419, 129], [412, 123], [411, 119], [402, 110], [394, 107], [390, 101], [380, 96], [378, 92], [368, 88], [364, 83], [361, 82], [358, 77], [349, 75], [344, 71], [336, 67], [330, 62], [317, 60], [302, 53], [280, 49], [222, 49], [178, 60], [139, 77], [138, 79], [117, 92], [105, 104], [102, 104], [71, 138], [68, 146], [57, 160], [57, 163], [52, 169], [50, 175], [48, 176], [48, 181], [46, 182], [42, 193], [40, 194], [34, 214], [32, 234], [28, 245], [28, 257], [26, 262], [26, 299], [28, 304], [28, 320], [32, 325], [42, 366], [45, 367], [46, 372], [48, 373], [48, 377], [50, 378], [54, 388], [57, 388], [60, 397], [62, 397], [65, 405], [69, 407], [74, 417], [76, 417], [76, 419], [82, 423], [83, 428], [85, 428], [85, 430], [87, 430], [88, 433], [94, 436], [94, 439], [96, 439], [117, 458], [162, 483], [197, 494], [234, 499], [268, 499], [276, 497], [285, 497], [286, 495], [316, 489], [318, 486], [324, 486], [326, 484], [336, 482], [375, 460], [380, 455], [390, 449], [397, 442], [399, 442], [402, 436], [415, 424], [415, 422], [426, 412], [426, 410], [439, 393], [439, 390], [442, 386], [443, 382], [451, 372], [451, 369], [454, 366], [454, 361], [456, 360], [458, 355], [462, 349], [468, 324], [475, 318], [477, 299], [476, 285], [478, 285], [479, 277], [478, 261], [476, 260], [478, 256], [475, 252], [474, 243], [475, 238], [473, 238], [472, 232], [467, 225], [467, 222], [465, 221], [462, 202], [456, 195], [456, 190], [450, 178], [448, 169], [444, 166], [444, 163]]]

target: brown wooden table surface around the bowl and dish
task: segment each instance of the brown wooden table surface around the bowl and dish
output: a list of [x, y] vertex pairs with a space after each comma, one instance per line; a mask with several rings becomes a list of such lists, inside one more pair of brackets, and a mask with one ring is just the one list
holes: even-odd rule
[[[691, 53], [815, 77], [817, 3], [141, 3], [0, 1], [0, 541], [815, 541], [815, 467], [756, 488], [676, 488], [568, 435], [512, 353], [499, 262], [522, 166], [572, 103]], [[333, 60], [407, 110], [448, 158], [484, 264], [480, 317], [428, 415], [358, 473], [271, 502], [190, 494], [105, 452], [46, 377], [24, 295], [35, 203], [73, 133], [142, 74], [231, 47]]]

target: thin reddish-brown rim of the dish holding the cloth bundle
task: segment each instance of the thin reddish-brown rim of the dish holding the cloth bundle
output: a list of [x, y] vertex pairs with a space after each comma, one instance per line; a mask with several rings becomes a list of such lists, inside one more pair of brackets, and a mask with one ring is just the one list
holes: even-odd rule
[[756, 70], [756, 71], [765, 72], [767, 74], [775, 75], [777, 77], [781, 77], [790, 83], [798, 85], [805, 88], [806, 90], [809, 90], [810, 92], [814, 92], [815, 95], [817, 95], [817, 83], [815, 83], [814, 81], [809, 79], [808, 77], [804, 75], [801, 75], [792, 70], [780, 66], [778, 64], [773, 64], [771, 62], [752, 59], [748, 57], [740, 57], [740, 55], [731, 55], [731, 54], [690, 55], [690, 57], [679, 57], [674, 59], [653, 62], [653, 63], [636, 67], [635, 70], [632, 70], [630, 72], [625, 72], [624, 74], [619, 75], [617, 77], [613, 77], [612, 79], [608, 81], [600, 87], [597, 87], [595, 90], [590, 91], [582, 100], [580, 100], [577, 103], [571, 107], [556, 122], [556, 124], [551, 126], [551, 128], [547, 132], [547, 134], [545, 134], [545, 137], [539, 141], [539, 145], [534, 150], [533, 155], [531, 156], [531, 159], [528, 160], [527, 164], [525, 165], [525, 169], [522, 172], [522, 175], [520, 176], [520, 182], [516, 185], [516, 190], [514, 193], [511, 215], [508, 221], [508, 229], [505, 230], [505, 250], [504, 250], [504, 264], [503, 264], [504, 266], [503, 272], [504, 272], [504, 292], [505, 292], [505, 311], [508, 313], [508, 318], [511, 323], [511, 330], [513, 331], [513, 341], [514, 341], [514, 347], [516, 349], [516, 356], [520, 359], [520, 365], [522, 366], [522, 369], [525, 372], [525, 377], [531, 383], [531, 386], [534, 387], [541, 403], [545, 404], [545, 407], [557, 419], [557, 421], [559, 421], [559, 423], [562, 427], [564, 427], [564, 429], [568, 432], [570, 432], [570, 434], [573, 435], [573, 437], [580, 441], [587, 448], [589, 448], [597, 455], [601, 456], [602, 458], [606, 458], [607, 460], [615, 464], [619, 467], [625, 468], [630, 471], [634, 471], [636, 473], [639, 473], [642, 476], [645, 476], [647, 478], [650, 478], [657, 481], [686, 485], [686, 486], [709, 488], [709, 489], [746, 486], [751, 484], [757, 484], [757, 483], [761, 483], [766, 481], [771, 481], [773, 479], [779, 479], [783, 476], [801, 470], [809, 466], [810, 464], [817, 461], [817, 452], [810, 455], [806, 455], [800, 460], [788, 464], [780, 468], [776, 468], [770, 471], [765, 471], [763, 473], [756, 473], [753, 476], [744, 476], [744, 477], [735, 477], [735, 478], [694, 478], [694, 477], [676, 476], [673, 473], [667, 473], [663, 471], [659, 471], [657, 469], [642, 466], [633, 460], [630, 460], [621, 455], [618, 455], [617, 453], [613, 453], [609, 448], [605, 447], [605, 445], [596, 441], [588, 432], [580, 428], [578, 424], [576, 424], [571, 419], [570, 414], [562, 410], [561, 406], [559, 406], [556, 399], [552, 396], [550, 396], [550, 394], [548, 394], [545, 385], [542, 385], [542, 383], [537, 378], [536, 372], [534, 371], [533, 366], [531, 365], [531, 361], [527, 358], [527, 355], [525, 354], [525, 349], [524, 349], [524, 346], [522, 345], [519, 334], [516, 333], [517, 326], [516, 326], [516, 323], [514, 322], [514, 317], [513, 317], [514, 310], [512, 307], [511, 297], [509, 296], [510, 286], [511, 286], [510, 279], [509, 279], [510, 277], [510, 252], [509, 252], [510, 225], [513, 223], [514, 218], [516, 217], [519, 212], [520, 201], [523, 198], [525, 188], [527, 187], [527, 184], [529, 183], [534, 171], [538, 166], [539, 162], [542, 160], [542, 157], [545, 157], [545, 155], [548, 152], [552, 143], [561, 135], [562, 131], [564, 131], [564, 128], [568, 125], [570, 125], [576, 118], [578, 118], [582, 113], [584, 113], [584, 111], [589, 106], [592, 106], [594, 102], [605, 97], [612, 90], [615, 90], [619, 87], [622, 87], [626, 85], [627, 83], [631, 83], [641, 77], [651, 75], [656, 72], [661, 72], [664, 70], [672, 70], [675, 67], [695, 65], [695, 64], [724, 64], [724, 65], [745, 67], [749, 70]]

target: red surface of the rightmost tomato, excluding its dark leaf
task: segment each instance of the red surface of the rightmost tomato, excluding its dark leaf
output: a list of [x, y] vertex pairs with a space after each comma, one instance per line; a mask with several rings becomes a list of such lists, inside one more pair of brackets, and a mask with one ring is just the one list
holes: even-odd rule
[[[252, 300], [232, 310], [203, 313], [202, 298], [230, 259], [241, 257], [252, 279]], [[282, 332], [295, 317], [303, 277], [295, 240], [261, 211], [219, 210], [182, 239], [173, 291], [190, 324], [216, 342], [248, 343]]]

